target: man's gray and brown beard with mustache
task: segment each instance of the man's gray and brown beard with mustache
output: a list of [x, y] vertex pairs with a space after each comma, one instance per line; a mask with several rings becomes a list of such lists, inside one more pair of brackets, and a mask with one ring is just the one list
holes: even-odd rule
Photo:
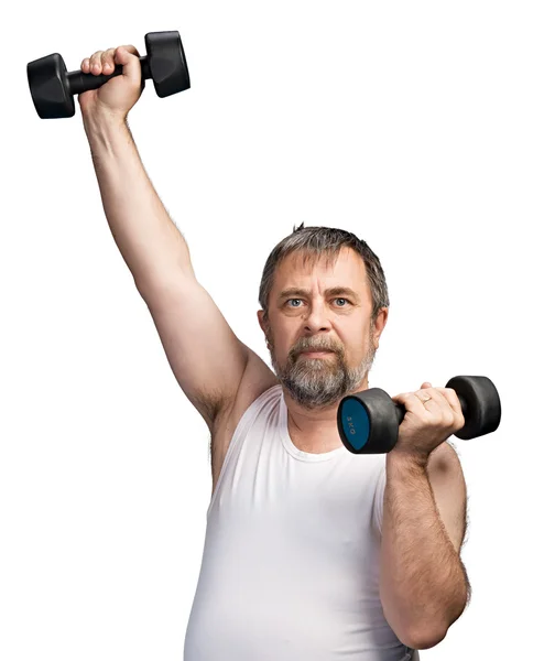
[[357, 392], [376, 355], [370, 342], [368, 354], [356, 368], [346, 365], [344, 351], [335, 351], [334, 356], [326, 358], [295, 358], [290, 353], [286, 365], [281, 367], [275, 359], [272, 342], [269, 350], [278, 379], [293, 400], [307, 410], [339, 404], [346, 394]]

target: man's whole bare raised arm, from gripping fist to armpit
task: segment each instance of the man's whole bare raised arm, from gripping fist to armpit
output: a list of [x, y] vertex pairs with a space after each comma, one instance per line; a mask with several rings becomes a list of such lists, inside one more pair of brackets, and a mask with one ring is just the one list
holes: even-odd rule
[[[123, 65], [122, 75], [78, 97], [104, 209], [174, 375], [211, 430], [233, 403], [253, 353], [197, 282], [187, 245], [138, 154], [126, 121], [141, 95], [138, 51], [134, 46], [98, 51], [83, 61], [81, 71], [108, 74], [115, 64]], [[258, 357], [251, 365], [268, 370]]]

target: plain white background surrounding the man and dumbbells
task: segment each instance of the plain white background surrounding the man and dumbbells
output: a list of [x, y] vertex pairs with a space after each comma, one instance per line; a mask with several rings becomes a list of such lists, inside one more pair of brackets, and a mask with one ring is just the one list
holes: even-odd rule
[[[486, 375], [499, 430], [458, 441], [472, 602], [425, 661], [542, 643], [543, 14], [538, 2], [10, 6], [1, 104], [0, 659], [179, 661], [211, 478], [107, 226], [76, 117], [39, 119], [26, 63], [178, 30], [192, 88], [129, 116], [193, 264], [269, 364], [264, 261], [293, 226], [380, 257], [390, 394]], [[331, 531], [334, 534], [334, 531]], [[281, 661], [281, 660], [278, 660]]]

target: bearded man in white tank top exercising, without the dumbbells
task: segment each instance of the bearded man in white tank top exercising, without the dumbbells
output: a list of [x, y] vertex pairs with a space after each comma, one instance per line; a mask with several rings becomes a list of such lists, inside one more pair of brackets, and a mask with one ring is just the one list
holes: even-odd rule
[[352, 455], [336, 412], [368, 388], [389, 311], [378, 257], [355, 235], [301, 226], [264, 267], [259, 324], [274, 372], [232, 333], [193, 271], [127, 126], [133, 46], [86, 73], [79, 96], [104, 208], [170, 365], [211, 434], [213, 494], [185, 661], [417, 659], [461, 615], [466, 488], [445, 441], [453, 390], [399, 394], [388, 455]]

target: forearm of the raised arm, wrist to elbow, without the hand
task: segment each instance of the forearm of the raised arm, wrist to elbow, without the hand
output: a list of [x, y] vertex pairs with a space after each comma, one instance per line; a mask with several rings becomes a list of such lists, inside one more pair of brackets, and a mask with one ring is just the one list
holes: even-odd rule
[[137, 288], [194, 275], [185, 239], [153, 188], [128, 124], [84, 116], [84, 127], [106, 218]]

